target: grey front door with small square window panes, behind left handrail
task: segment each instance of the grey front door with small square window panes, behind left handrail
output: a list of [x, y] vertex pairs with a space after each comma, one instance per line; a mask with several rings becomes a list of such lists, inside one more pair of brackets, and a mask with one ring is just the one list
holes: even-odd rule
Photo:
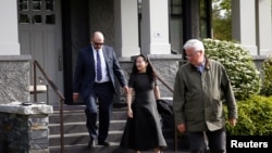
[[[63, 92], [61, 0], [17, 0], [17, 10], [21, 54], [30, 54], [37, 60]], [[37, 78], [45, 78], [38, 69]], [[47, 81], [39, 84], [47, 85]], [[57, 105], [59, 99], [51, 87], [48, 87], [48, 95], [47, 99], [47, 94], [38, 94], [38, 101]]]

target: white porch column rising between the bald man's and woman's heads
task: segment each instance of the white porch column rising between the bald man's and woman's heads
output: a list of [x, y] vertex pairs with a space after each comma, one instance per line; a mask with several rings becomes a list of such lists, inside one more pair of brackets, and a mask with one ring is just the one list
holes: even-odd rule
[[118, 56], [139, 54], [137, 0], [114, 0], [114, 24]]

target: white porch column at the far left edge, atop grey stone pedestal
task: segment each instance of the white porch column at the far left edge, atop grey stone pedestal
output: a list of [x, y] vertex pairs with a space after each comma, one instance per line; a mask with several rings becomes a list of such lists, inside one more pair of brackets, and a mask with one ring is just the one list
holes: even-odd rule
[[0, 0], [0, 55], [20, 54], [17, 1]]

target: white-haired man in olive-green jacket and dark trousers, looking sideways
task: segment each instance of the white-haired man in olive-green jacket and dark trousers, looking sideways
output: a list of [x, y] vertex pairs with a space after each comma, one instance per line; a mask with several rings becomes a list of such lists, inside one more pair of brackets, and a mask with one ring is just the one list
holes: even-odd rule
[[[190, 39], [184, 44], [188, 63], [176, 73], [173, 109], [176, 128], [187, 132], [191, 153], [225, 153], [225, 114], [236, 125], [237, 105], [224, 66], [205, 55], [202, 41]], [[206, 143], [207, 137], [208, 144]]]

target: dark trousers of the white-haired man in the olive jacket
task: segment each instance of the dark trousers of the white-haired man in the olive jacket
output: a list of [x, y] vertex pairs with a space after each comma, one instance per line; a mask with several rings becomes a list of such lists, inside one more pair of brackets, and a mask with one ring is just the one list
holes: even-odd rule
[[188, 132], [191, 153], [225, 153], [225, 128], [215, 131]]

